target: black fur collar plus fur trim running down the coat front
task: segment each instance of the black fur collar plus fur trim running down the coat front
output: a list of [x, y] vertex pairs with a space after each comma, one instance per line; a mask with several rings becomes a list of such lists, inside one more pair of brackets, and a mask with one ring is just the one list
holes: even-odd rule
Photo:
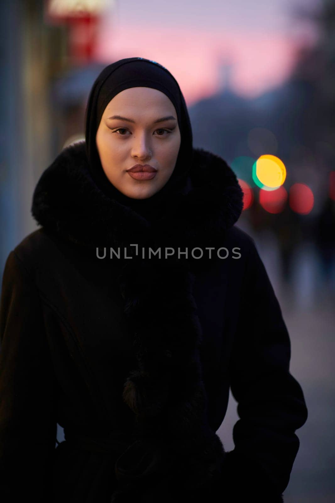
[[[194, 149], [190, 190], [164, 222], [149, 224], [92, 183], [85, 143], [63, 150], [46, 169], [32, 205], [38, 223], [85, 246], [123, 246], [143, 242], [143, 235], [169, 245], [173, 239], [178, 246], [221, 244], [241, 210], [242, 191], [226, 162]], [[167, 487], [175, 491], [169, 501], [183, 491], [185, 499], [214, 500], [211, 491], [222, 484], [225, 451], [208, 425], [194, 274], [180, 260], [161, 265], [126, 260], [120, 267], [118, 285], [138, 361], [123, 399], [135, 414], [137, 440], [115, 463], [120, 487], [111, 503], [135, 500], [140, 488], [152, 501], [163, 501]]]

